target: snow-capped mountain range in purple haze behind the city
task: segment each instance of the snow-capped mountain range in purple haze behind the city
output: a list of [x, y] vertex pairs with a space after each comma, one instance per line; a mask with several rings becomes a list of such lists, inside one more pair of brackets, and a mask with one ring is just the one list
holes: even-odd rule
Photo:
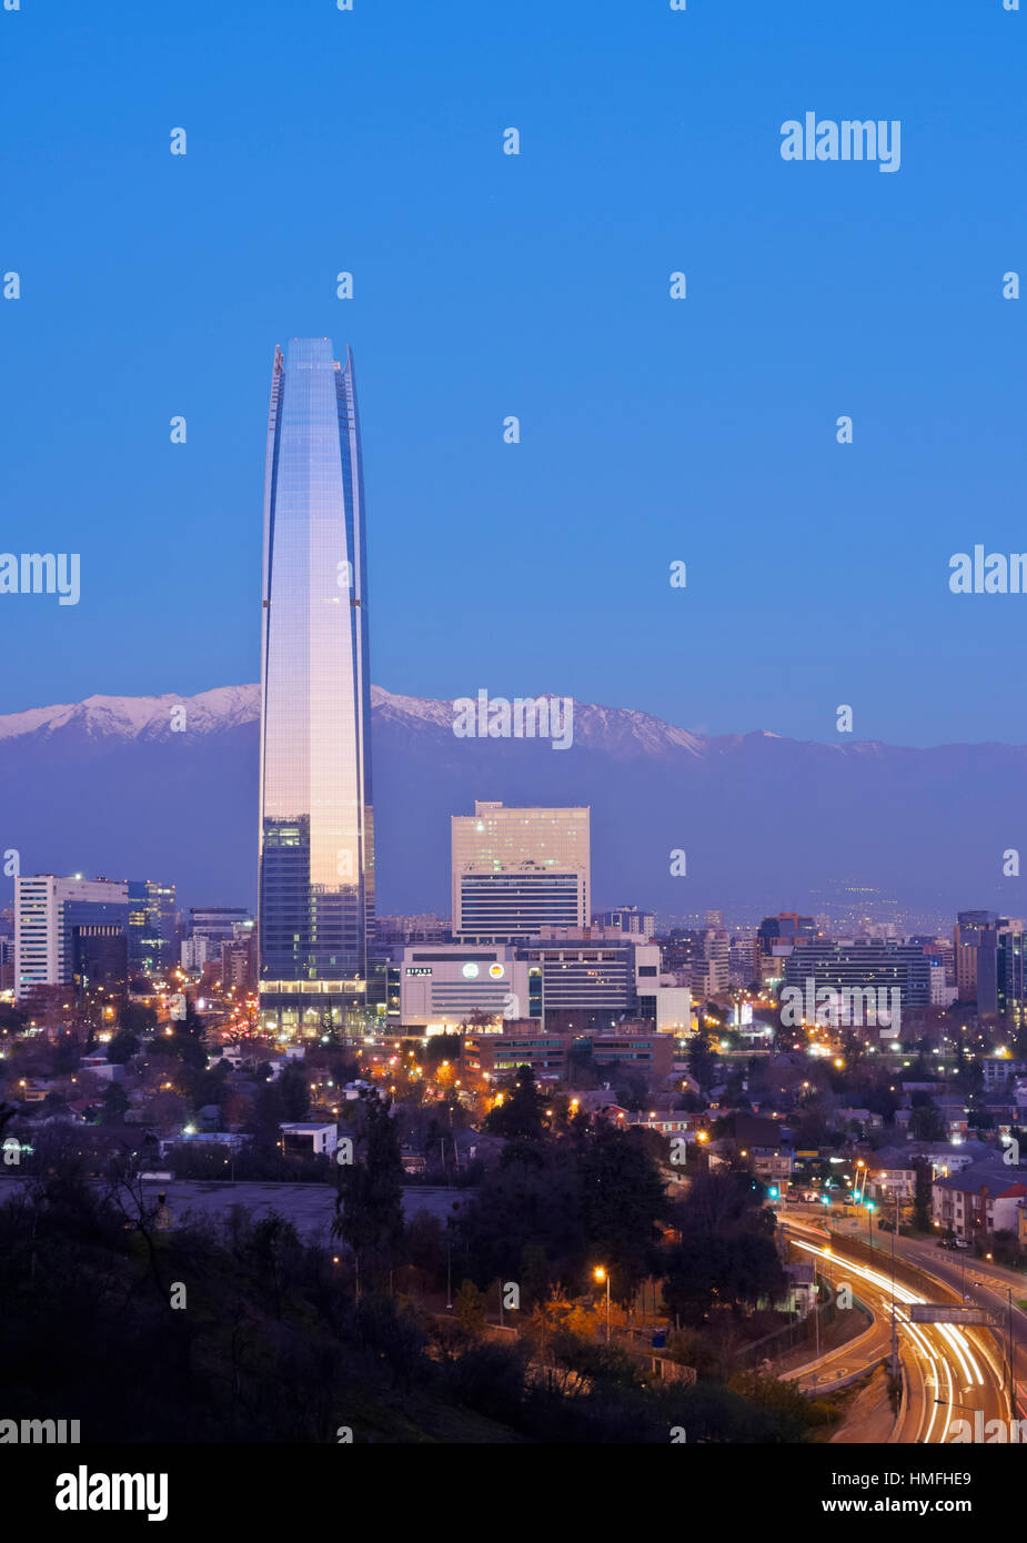
[[[173, 880], [184, 904], [252, 904], [258, 710], [256, 685], [230, 685], [0, 716], [0, 852], [26, 873]], [[452, 725], [449, 701], [372, 687], [383, 913], [448, 915], [449, 816], [476, 798], [590, 804], [596, 909], [792, 910], [860, 884], [924, 909], [1027, 909], [1002, 873], [1021, 841], [1027, 858], [1022, 745], [704, 736], [591, 704], [575, 704], [565, 751]]]

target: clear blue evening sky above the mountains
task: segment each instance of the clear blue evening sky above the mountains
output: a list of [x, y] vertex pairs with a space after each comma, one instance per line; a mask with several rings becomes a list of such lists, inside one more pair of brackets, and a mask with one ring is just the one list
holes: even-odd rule
[[[0, 597], [0, 711], [256, 679], [272, 353], [329, 335], [375, 682], [1027, 741], [1027, 597], [947, 585], [1027, 549], [1025, 29], [1001, 0], [0, 11], [0, 546], [82, 554], [77, 606]], [[900, 171], [781, 160], [806, 110], [899, 119]]]

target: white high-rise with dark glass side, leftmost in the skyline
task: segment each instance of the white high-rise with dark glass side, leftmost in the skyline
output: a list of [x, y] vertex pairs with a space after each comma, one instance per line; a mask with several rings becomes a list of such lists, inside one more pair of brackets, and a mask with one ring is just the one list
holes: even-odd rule
[[[86, 927], [128, 930], [128, 886], [103, 878], [23, 875], [14, 881], [14, 995], [29, 997], [37, 986], [73, 986], [85, 943], [96, 950], [103, 940], [110, 960], [110, 932], [80, 932]], [[79, 947], [79, 960], [76, 949]], [[125, 958], [124, 944], [120, 958]]]

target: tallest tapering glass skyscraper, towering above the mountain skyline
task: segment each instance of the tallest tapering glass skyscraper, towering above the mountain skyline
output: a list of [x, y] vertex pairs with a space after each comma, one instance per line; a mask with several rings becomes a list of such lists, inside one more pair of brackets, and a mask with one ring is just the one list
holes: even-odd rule
[[332, 353], [275, 349], [264, 472], [261, 1014], [306, 1031], [364, 1004], [374, 929], [360, 420]]

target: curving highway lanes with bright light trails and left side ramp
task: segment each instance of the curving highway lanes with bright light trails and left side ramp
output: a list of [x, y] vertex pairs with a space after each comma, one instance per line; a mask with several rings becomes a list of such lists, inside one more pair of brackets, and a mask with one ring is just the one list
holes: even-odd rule
[[[876, 1315], [873, 1330], [849, 1341], [815, 1366], [817, 1383], [831, 1383], [871, 1367], [891, 1347], [893, 1279], [890, 1254], [880, 1265], [854, 1258], [856, 1250], [845, 1241], [828, 1239], [823, 1227], [797, 1216], [781, 1216], [781, 1227], [802, 1254], [817, 1261], [817, 1270], [835, 1288], [849, 1282]], [[862, 1241], [862, 1239], [859, 1239]], [[891, 1248], [891, 1239], [888, 1239]], [[937, 1251], [937, 1250], [936, 1250]], [[985, 1424], [1005, 1421], [1008, 1401], [1002, 1387], [1002, 1358], [991, 1333], [985, 1329], [964, 1329], [954, 1324], [914, 1324], [908, 1310], [916, 1302], [947, 1299], [942, 1291], [930, 1291], [930, 1284], [916, 1290], [902, 1281], [894, 1284], [899, 1356], [907, 1372], [907, 1407], [896, 1440], [902, 1444], [947, 1444], [959, 1432], [956, 1421], [973, 1427], [979, 1410]], [[814, 1386], [812, 1373], [800, 1379], [803, 1389]]]

